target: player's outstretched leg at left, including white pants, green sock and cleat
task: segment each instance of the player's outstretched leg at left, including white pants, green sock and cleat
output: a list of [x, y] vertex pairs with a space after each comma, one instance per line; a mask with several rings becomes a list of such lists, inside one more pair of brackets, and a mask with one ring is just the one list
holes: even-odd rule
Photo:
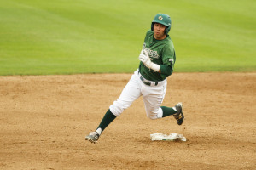
[[90, 142], [96, 143], [99, 136], [102, 134], [104, 129], [113, 122], [116, 116], [119, 116], [125, 109], [131, 106], [132, 102], [139, 98], [141, 94], [140, 82], [137, 76], [137, 71], [132, 75], [130, 81], [126, 84], [119, 99], [110, 105], [105, 116], [102, 118], [102, 122], [96, 128], [96, 132], [90, 133], [85, 139], [90, 140]]

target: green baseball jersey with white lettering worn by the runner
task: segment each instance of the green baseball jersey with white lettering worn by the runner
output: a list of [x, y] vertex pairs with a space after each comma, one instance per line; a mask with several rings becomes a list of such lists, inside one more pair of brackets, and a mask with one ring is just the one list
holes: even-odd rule
[[[156, 40], [154, 38], [154, 32], [148, 31], [143, 43], [143, 49], [148, 51], [148, 55], [152, 62], [160, 65], [161, 73], [148, 69], [143, 62], [140, 62], [139, 71], [144, 78], [158, 82], [163, 81], [166, 77], [170, 76], [173, 71], [174, 63], [176, 61], [176, 55], [171, 37], [167, 37], [163, 40]], [[169, 67], [170, 74], [165, 74], [164, 68]]]

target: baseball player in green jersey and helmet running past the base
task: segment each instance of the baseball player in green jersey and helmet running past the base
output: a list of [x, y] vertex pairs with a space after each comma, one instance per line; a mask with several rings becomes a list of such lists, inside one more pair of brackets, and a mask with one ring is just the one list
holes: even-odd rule
[[171, 18], [167, 14], [156, 14], [147, 31], [143, 49], [139, 55], [140, 64], [131, 76], [119, 99], [110, 105], [102, 122], [95, 132], [89, 133], [85, 140], [96, 143], [103, 130], [113, 122], [132, 102], [143, 96], [146, 114], [150, 119], [173, 115], [178, 125], [183, 124], [183, 105], [173, 107], [160, 106], [166, 94], [166, 78], [172, 75], [176, 60], [175, 50], [168, 32], [171, 30]]

